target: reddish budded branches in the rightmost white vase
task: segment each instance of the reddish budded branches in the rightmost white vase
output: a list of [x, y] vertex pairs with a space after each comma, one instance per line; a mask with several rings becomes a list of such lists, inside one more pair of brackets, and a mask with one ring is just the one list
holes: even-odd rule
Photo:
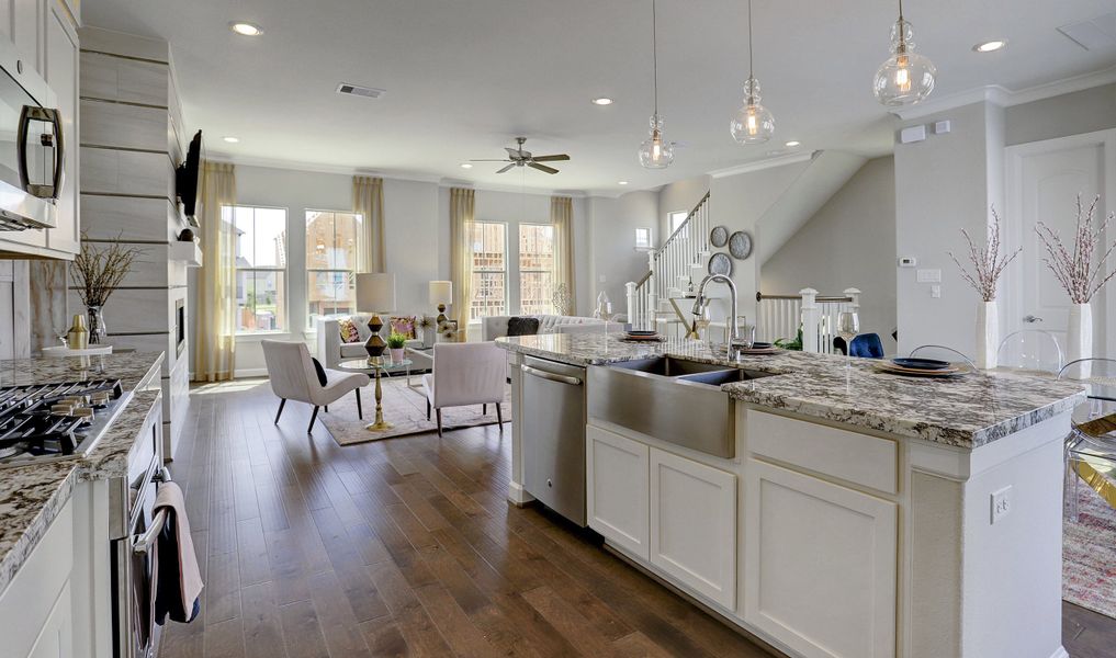
[[1069, 294], [1074, 303], [1089, 303], [1093, 296], [1100, 291], [1113, 277], [1116, 277], [1116, 268], [1105, 274], [1105, 261], [1116, 250], [1116, 242], [1108, 245], [1104, 255], [1094, 261], [1094, 257], [1100, 252], [1104, 244], [1100, 241], [1105, 229], [1116, 217], [1116, 213], [1108, 213], [1104, 222], [1096, 230], [1093, 229], [1093, 213], [1096, 212], [1097, 202], [1100, 195], [1093, 197], [1088, 211], [1081, 205], [1081, 195], [1077, 195], [1077, 225], [1075, 226], [1072, 248], [1067, 248], [1059, 238], [1058, 232], [1050, 229], [1042, 222], [1035, 225], [1046, 246], [1048, 257], [1042, 262], [1054, 272], [1058, 283], [1061, 284], [1066, 293]]

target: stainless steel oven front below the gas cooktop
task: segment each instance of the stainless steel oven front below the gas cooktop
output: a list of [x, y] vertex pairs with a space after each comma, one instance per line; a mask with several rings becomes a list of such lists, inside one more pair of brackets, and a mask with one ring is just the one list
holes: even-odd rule
[[154, 514], [155, 494], [170, 481], [163, 467], [162, 410], [156, 404], [142, 439], [128, 453], [128, 472], [109, 481], [109, 541], [113, 583], [113, 655], [151, 658], [158, 633], [154, 619], [154, 538], [164, 513]]

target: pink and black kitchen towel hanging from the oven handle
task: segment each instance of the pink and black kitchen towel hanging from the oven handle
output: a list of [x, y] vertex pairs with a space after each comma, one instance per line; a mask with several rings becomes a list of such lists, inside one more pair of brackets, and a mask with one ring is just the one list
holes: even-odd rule
[[185, 496], [173, 482], [164, 482], [155, 495], [153, 513], [158, 514], [163, 510], [166, 511], [166, 521], [156, 542], [155, 621], [160, 626], [167, 616], [172, 621], [192, 621], [201, 609], [199, 596], [204, 587], [194, 542], [190, 536]]

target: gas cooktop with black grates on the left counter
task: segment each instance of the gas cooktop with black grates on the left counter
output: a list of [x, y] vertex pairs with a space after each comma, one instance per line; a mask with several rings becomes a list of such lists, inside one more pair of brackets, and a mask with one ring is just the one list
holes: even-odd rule
[[0, 467], [85, 455], [126, 400], [118, 379], [0, 387]]

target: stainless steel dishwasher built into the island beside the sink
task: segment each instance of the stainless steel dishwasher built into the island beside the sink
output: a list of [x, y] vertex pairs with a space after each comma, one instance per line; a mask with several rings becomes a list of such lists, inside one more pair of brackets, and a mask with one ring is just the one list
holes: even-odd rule
[[523, 488], [585, 526], [585, 368], [525, 357]]

